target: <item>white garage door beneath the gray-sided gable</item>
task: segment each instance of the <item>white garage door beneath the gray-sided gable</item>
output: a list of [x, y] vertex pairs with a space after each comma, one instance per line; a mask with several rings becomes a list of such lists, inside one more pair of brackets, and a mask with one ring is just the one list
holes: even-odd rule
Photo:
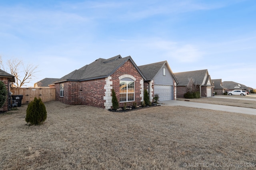
[[158, 94], [159, 101], [173, 100], [173, 86], [154, 85], [154, 94]]

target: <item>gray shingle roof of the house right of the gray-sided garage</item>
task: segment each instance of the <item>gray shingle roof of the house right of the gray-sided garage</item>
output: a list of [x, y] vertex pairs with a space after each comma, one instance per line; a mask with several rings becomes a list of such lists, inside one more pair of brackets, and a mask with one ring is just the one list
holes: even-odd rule
[[195, 84], [204, 85], [204, 77], [208, 72], [207, 69], [205, 70], [194, 70], [194, 71], [187, 71], [187, 72], [176, 72], [174, 76], [178, 80], [178, 86], [188, 86], [190, 79], [192, 78]]

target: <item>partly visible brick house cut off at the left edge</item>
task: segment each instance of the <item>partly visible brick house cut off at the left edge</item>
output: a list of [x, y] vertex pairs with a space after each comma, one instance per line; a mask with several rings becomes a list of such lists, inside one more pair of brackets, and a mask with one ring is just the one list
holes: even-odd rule
[[[15, 82], [14, 76], [0, 69], [0, 80], [4, 82], [7, 91], [10, 92], [11, 83]], [[0, 108], [0, 111], [8, 111], [8, 106], [10, 106], [10, 100], [7, 98], [6, 103]]]

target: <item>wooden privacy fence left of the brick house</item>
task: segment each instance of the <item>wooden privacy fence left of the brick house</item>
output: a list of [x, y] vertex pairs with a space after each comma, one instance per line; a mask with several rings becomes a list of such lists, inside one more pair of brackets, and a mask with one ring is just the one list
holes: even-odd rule
[[21, 104], [29, 104], [34, 98], [41, 98], [42, 102], [55, 100], [55, 88], [11, 88], [12, 95], [23, 95]]

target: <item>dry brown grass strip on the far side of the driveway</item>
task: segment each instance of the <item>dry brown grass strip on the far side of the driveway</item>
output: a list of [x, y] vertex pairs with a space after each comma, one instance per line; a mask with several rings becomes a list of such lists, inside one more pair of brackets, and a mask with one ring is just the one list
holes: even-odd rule
[[[224, 98], [199, 98], [199, 99], [184, 99], [178, 98], [177, 100], [190, 100], [190, 102], [219, 104], [226, 106], [248, 107], [256, 109], [256, 96], [223, 96]], [[227, 98], [225, 98], [227, 97]], [[229, 99], [233, 98], [233, 99]], [[254, 100], [242, 100], [242, 99], [254, 99]]]

